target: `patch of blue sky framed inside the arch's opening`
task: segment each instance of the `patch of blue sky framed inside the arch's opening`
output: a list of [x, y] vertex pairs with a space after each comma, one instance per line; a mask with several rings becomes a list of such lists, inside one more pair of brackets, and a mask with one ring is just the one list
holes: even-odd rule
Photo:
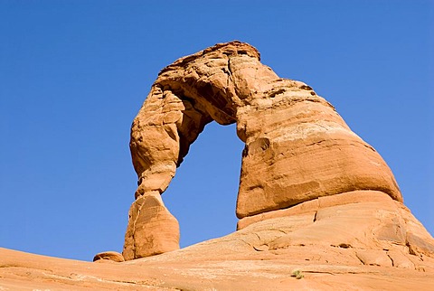
[[165, 206], [179, 222], [181, 248], [235, 230], [244, 147], [235, 131], [234, 124], [209, 123], [162, 194]]

